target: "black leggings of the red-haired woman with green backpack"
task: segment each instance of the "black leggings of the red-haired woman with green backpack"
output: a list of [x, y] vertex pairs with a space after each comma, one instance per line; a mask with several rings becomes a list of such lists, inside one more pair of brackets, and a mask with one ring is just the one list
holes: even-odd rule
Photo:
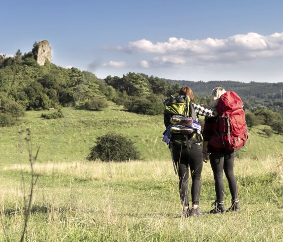
[[192, 203], [198, 205], [201, 194], [201, 173], [203, 169], [202, 150], [199, 144], [192, 144], [187, 151], [186, 147], [174, 146], [173, 159], [178, 169], [180, 199], [183, 206], [188, 206], [188, 167], [192, 176]]

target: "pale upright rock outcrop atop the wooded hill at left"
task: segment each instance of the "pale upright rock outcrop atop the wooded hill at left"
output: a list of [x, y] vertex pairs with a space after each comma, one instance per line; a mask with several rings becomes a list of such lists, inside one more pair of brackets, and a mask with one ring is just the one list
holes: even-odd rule
[[44, 66], [45, 60], [52, 61], [51, 47], [48, 40], [38, 42], [32, 52], [39, 66]]

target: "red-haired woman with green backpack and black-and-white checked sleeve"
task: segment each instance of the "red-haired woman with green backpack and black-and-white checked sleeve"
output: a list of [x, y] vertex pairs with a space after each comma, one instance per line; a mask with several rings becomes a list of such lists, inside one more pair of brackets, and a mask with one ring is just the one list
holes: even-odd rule
[[[201, 173], [203, 168], [202, 149], [203, 141], [198, 123], [199, 115], [215, 117], [216, 110], [204, 108], [195, 104], [194, 93], [190, 87], [184, 86], [179, 95], [170, 96], [164, 100], [164, 124], [166, 130], [163, 133], [163, 141], [169, 144], [175, 172], [179, 176], [179, 193], [182, 205], [182, 215], [202, 216], [199, 207], [201, 192]], [[188, 169], [192, 176], [192, 208], [188, 203]]]

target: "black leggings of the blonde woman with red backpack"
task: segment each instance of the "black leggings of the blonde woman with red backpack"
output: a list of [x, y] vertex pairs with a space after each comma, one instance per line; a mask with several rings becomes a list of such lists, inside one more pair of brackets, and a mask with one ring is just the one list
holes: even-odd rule
[[228, 180], [232, 200], [238, 198], [238, 185], [234, 175], [234, 158], [234, 152], [230, 154], [211, 153], [209, 156], [210, 165], [214, 175], [217, 202], [224, 200], [223, 170]]

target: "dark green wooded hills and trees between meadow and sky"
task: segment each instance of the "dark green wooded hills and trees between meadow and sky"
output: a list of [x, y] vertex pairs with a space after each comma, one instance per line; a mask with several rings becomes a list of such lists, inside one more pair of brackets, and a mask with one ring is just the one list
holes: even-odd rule
[[[8, 58], [0, 55], [1, 126], [17, 123], [18, 117], [29, 110], [69, 106], [98, 110], [107, 107], [108, 101], [123, 105], [130, 112], [157, 115], [163, 113], [162, 99], [176, 95], [183, 85], [193, 89], [196, 102], [201, 104], [210, 103], [211, 91], [216, 86], [236, 91], [245, 103], [249, 125], [264, 120], [263, 107], [278, 114], [276, 120], [282, 119], [283, 103], [278, 90], [283, 88], [283, 83], [176, 81], [132, 72], [101, 80], [91, 72], [62, 68], [48, 60], [39, 66], [35, 47], [36, 42], [31, 52], [22, 54], [18, 50], [14, 57]], [[253, 115], [261, 116], [254, 120]]]

